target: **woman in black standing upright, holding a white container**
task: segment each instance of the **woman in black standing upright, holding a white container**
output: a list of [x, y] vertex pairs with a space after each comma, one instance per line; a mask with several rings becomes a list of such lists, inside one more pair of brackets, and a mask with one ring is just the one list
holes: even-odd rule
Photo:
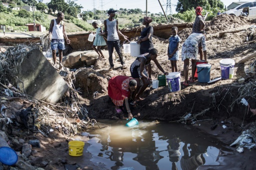
[[137, 41], [140, 44], [140, 54], [145, 54], [150, 48], [154, 47], [152, 43], [153, 27], [149, 25], [150, 22], [152, 22], [152, 19], [149, 16], [144, 16], [142, 25], [146, 27], [140, 32], [140, 37]]

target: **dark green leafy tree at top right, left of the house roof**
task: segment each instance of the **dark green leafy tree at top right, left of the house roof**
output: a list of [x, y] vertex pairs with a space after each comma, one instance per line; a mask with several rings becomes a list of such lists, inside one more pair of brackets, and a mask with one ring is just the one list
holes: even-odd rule
[[219, 7], [222, 9], [224, 4], [220, 0], [178, 0], [176, 11], [183, 13], [184, 11], [195, 8], [196, 6]]

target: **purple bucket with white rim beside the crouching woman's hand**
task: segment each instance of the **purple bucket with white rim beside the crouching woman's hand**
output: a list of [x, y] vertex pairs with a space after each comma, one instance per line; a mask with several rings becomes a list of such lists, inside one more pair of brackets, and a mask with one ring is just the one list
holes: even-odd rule
[[176, 92], [180, 90], [180, 73], [172, 72], [166, 75], [167, 84], [170, 92]]

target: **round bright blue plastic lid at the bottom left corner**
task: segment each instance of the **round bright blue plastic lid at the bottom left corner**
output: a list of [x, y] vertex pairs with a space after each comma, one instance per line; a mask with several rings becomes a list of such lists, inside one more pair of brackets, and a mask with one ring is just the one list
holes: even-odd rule
[[0, 148], [0, 162], [2, 164], [12, 166], [16, 164], [17, 160], [18, 160], [18, 156], [13, 149], [8, 147]]

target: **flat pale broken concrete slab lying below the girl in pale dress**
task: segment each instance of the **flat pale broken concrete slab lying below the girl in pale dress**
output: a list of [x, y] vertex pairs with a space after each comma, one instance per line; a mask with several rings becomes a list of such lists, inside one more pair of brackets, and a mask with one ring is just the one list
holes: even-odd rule
[[[108, 51], [103, 51], [103, 55], [108, 58]], [[94, 50], [76, 51], [63, 57], [62, 64], [67, 68], [80, 68], [85, 65], [94, 65], [98, 58], [98, 54]], [[115, 58], [113, 54], [113, 58]]]

